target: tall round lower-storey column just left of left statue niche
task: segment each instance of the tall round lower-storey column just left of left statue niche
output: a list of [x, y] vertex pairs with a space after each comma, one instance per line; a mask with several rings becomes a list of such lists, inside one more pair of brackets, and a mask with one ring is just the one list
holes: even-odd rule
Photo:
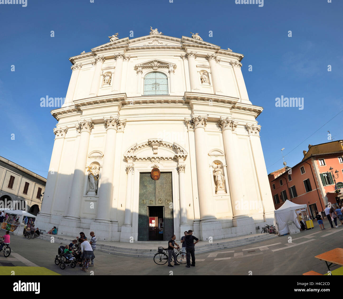
[[92, 119], [78, 121], [76, 130], [81, 133], [80, 142], [78, 148], [78, 154], [76, 155], [75, 170], [73, 175], [73, 181], [71, 185], [71, 192], [69, 198], [69, 205], [66, 218], [79, 220], [81, 199], [83, 194], [83, 184], [85, 179], [85, 169], [87, 162], [88, 144], [91, 131], [94, 128]]

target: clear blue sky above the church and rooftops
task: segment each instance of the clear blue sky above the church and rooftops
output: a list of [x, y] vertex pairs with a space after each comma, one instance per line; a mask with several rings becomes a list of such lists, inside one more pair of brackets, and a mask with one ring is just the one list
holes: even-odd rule
[[[333, 118], [343, 110], [343, 1], [332, 2], [264, 0], [263, 7], [235, 0], [0, 4], [0, 156], [47, 177], [57, 121], [50, 108], [40, 107], [40, 98], [66, 96], [69, 57], [107, 43], [116, 32], [120, 38], [131, 30], [134, 37], [148, 35], [152, 26], [175, 37], [198, 32], [205, 41], [244, 54], [249, 98], [264, 108], [257, 120], [267, 171], [282, 167], [283, 147], [287, 165], [293, 166], [309, 143], [329, 141], [328, 130], [334, 140], [343, 139], [343, 112]], [[281, 96], [303, 97], [304, 109], [275, 107]]]

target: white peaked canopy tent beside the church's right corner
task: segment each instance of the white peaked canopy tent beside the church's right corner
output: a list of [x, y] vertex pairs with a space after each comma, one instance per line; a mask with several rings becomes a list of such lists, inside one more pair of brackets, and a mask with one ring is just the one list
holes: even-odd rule
[[290, 221], [292, 221], [297, 228], [300, 228], [295, 211], [303, 208], [307, 209], [307, 205], [296, 204], [286, 200], [281, 207], [274, 211], [274, 225], [280, 236], [288, 234], [289, 229], [287, 223]]

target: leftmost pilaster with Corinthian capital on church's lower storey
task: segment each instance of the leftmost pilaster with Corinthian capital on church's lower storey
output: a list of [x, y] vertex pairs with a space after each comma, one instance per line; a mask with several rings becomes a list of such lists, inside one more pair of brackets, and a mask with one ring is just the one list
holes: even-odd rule
[[[63, 151], [64, 137], [68, 132], [68, 127], [54, 128], [54, 134], [56, 135], [54, 148], [52, 149], [52, 155], [50, 160], [48, 179], [44, 190], [44, 200], [39, 212], [39, 221], [42, 221], [41, 216], [49, 217], [51, 215], [51, 207], [54, 202], [54, 193], [57, 176], [59, 174], [59, 165], [61, 161], [61, 155]], [[48, 221], [49, 222], [49, 221]]]

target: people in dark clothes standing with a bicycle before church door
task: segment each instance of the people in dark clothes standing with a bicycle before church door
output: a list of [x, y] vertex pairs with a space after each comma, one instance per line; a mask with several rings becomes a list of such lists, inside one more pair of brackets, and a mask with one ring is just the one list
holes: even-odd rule
[[[197, 237], [193, 236], [193, 231], [190, 229], [189, 231], [184, 232], [185, 236], [181, 237], [181, 243], [182, 243], [182, 249], [181, 249], [181, 259], [185, 258], [186, 254], [186, 261], [187, 265], [186, 267], [189, 268], [190, 266], [195, 267], [195, 244], [199, 242], [199, 239]], [[174, 266], [180, 265], [176, 260], [176, 254], [174, 249], [180, 249], [179, 244], [175, 242], [176, 236], [171, 236], [171, 239], [168, 241], [168, 267], [173, 267], [171, 265], [171, 256], [174, 258]], [[195, 240], [195, 242], [194, 242]], [[176, 247], [175, 247], [176, 245]], [[191, 263], [192, 258], [192, 263]]]

